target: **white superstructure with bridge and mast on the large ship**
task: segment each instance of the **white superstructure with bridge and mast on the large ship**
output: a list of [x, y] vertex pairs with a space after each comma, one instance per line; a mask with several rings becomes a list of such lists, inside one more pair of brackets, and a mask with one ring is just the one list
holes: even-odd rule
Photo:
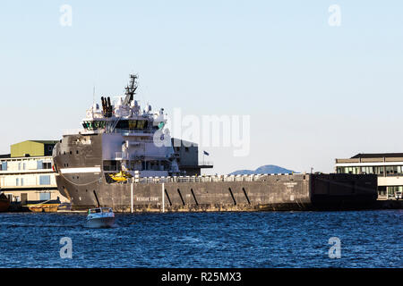
[[[141, 177], [180, 174], [171, 136], [165, 128], [164, 109], [154, 112], [149, 104], [141, 109], [133, 97], [137, 76], [131, 75], [130, 79], [124, 98], [117, 97], [112, 105], [110, 97], [101, 97], [101, 105], [94, 103], [87, 110], [79, 133], [105, 135], [102, 136], [104, 172], [139, 171]], [[90, 144], [90, 138], [87, 140], [78, 143]], [[68, 172], [64, 169], [62, 172]]]

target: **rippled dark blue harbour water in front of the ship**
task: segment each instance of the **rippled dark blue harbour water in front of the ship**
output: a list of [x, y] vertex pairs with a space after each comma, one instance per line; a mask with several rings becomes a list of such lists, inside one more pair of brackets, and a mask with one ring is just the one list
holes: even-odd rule
[[111, 229], [85, 228], [85, 214], [0, 214], [0, 267], [402, 267], [402, 214], [116, 214]]

